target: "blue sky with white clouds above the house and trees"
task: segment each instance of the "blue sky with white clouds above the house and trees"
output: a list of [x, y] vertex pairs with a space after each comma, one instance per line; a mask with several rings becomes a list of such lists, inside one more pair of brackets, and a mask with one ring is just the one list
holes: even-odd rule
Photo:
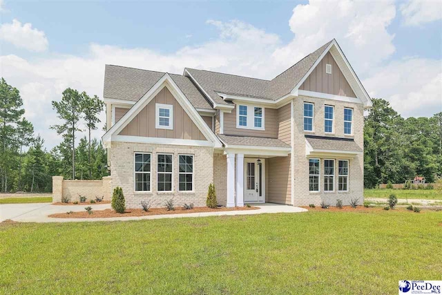
[[271, 79], [332, 38], [373, 97], [404, 117], [442, 111], [441, 1], [0, 0], [0, 17], [1, 75], [48, 147], [50, 102], [66, 87], [102, 97], [104, 64]]

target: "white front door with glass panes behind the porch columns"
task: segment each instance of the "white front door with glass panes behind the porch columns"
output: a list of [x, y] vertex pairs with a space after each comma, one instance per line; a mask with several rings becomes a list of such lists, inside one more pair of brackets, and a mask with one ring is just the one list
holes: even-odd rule
[[244, 202], [264, 202], [263, 174], [257, 159], [244, 159]]

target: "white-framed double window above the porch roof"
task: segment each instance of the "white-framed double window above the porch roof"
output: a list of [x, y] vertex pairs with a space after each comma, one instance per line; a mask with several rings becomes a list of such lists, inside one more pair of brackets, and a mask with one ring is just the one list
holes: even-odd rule
[[236, 128], [265, 130], [265, 108], [238, 104]]

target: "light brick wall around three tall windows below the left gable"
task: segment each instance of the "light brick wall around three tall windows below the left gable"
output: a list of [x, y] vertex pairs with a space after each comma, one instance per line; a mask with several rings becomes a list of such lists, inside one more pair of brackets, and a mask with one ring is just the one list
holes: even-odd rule
[[[135, 192], [134, 153], [152, 153], [151, 192]], [[173, 153], [172, 192], [157, 192], [157, 153]], [[193, 192], [178, 190], [178, 155], [192, 154]], [[177, 146], [167, 144], [136, 144], [113, 142], [111, 146], [111, 187], [122, 187], [126, 207], [141, 208], [142, 200], [151, 200], [152, 207], [164, 207], [164, 202], [173, 198], [177, 206], [193, 203], [205, 206], [209, 184], [213, 181], [213, 148], [207, 146]], [[218, 188], [217, 188], [218, 189]]]

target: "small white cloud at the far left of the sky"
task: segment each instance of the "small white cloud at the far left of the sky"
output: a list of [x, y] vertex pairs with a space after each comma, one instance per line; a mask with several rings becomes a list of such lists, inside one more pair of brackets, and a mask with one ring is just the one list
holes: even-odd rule
[[48, 39], [43, 31], [32, 28], [30, 23], [22, 24], [17, 19], [0, 25], [0, 39], [30, 51], [41, 52], [48, 49]]

